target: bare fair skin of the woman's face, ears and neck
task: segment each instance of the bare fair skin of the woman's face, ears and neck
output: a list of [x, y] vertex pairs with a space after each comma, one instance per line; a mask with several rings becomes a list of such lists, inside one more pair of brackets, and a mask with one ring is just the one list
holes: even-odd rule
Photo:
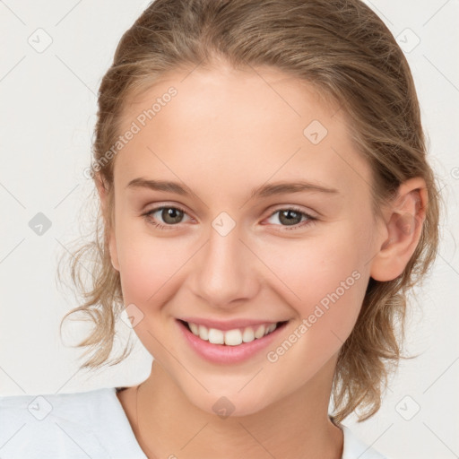
[[[130, 100], [121, 131], [171, 85], [178, 95], [117, 153], [114, 165], [111, 260], [125, 305], [143, 313], [134, 332], [154, 356], [138, 394], [140, 429], [136, 386], [118, 394], [134, 435], [149, 457], [340, 458], [342, 430], [327, 415], [337, 355], [369, 277], [394, 279], [414, 252], [425, 182], [405, 182], [375, 220], [370, 169], [351, 143], [342, 110], [307, 82], [273, 69], [222, 65], [169, 74]], [[328, 130], [316, 145], [303, 134], [312, 120]], [[194, 195], [126, 188], [134, 178], [178, 181]], [[298, 179], [339, 193], [249, 199], [255, 186]], [[98, 189], [108, 218], [107, 192], [100, 182]], [[143, 216], [160, 205], [186, 213], [169, 223], [155, 212], [157, 222], [169, 224], [160, 230]], [[300, 227], [307, 216], [299, 214], [297, 230], [289, 230], [274, 212], [291, 205], [317, 221]], [[221, 212], [236, 223], [224, 237], [212, 228]], [[410, 222], [416, 225], [406, 230]], [[268, 361], [267, 351], [355, 271], [359, 280], [289, 351]], [[190, 349], [176, 322], [181, 316], [290, 322], [268, 350], [225, 365]], [[234, 405], [226, 419], [212, 410], [221, 396]]]

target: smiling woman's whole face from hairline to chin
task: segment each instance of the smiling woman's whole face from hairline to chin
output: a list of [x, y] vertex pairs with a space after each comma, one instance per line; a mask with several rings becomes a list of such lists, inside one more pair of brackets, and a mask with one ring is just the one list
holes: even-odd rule
[[382, 240], [342, 110], [272, 69], [195, 69], [132, 100], [129, 129], [110, 254], [170, 381], [235, 415], [330, 382]]

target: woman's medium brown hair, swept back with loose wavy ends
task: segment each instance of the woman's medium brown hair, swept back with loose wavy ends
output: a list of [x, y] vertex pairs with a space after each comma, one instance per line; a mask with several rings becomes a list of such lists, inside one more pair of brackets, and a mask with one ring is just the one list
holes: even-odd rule
[[[403, 181], [426, 181], [429, 204], [419, 244], [396, 279], [370, 278], [337, 361], [334, 419], [359, 409], [359, 420], [365, 420], [379, 409], [390, 370], [402, 358], [407, 291], [422, 280], [437, 254], [440, 201], [409, 65], [384, 22], [359, 0], [156, 0], [123, 35], [100, 84], [93, 164], [103, 163], [117, 142], [126, 100], [169, 72], [221, 62], [235, 69], [280, 70], [336, 102], [371, 167], [375, 215]], [[108, 191], [108, 213], [99, 208], [95, 240], [80, 247], [72, 261], [72, 278], [84, 303], [63, 318], [82, 312], [95, 325], [78, 344], [89, 347], [84, 355], [92, 352], [83, 368], [107, 363], [124, 307], [119, 273], [108, 252], [115, 161], [105, 162], [100, 178]], [[94, 262], [89, 289], [81, 277], [83, 255]], [[129, 352], [126, 348], [111, 364]]]

